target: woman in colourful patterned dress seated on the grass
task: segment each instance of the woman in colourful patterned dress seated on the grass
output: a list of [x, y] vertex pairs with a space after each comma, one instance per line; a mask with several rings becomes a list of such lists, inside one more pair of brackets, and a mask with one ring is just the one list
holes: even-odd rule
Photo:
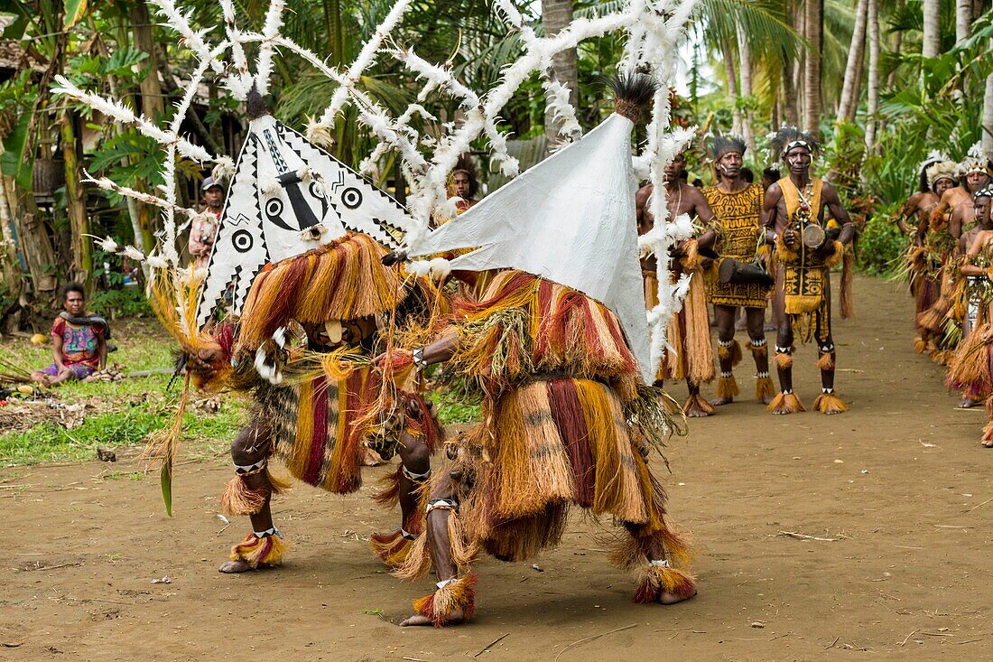
[[107, 365], [107, 321], [86, 313], [86, 292], [77, 282], [63, 288], [65, 310], [52, 324], [52, 356], [55, 363], [31, 374], [34, 382], [55, 386], [67, 380], [89, 377]]

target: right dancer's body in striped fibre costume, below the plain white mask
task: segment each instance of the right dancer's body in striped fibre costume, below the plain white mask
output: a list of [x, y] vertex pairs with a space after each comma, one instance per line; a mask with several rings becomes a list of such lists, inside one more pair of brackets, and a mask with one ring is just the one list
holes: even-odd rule
[[[519, 270], [497, 272], [482, 299], [453, 305], [459, 349], [449, 366], [482, 390], [484, 422], [449, 445], [450, 464], [433, 479], [428, 512], [449, 511], [458, 577], [415, 601], [417, 612], [436, 625], [456, 608], [471, 615], [475, 556], [524, 561], [555, 547], [573, 506], [626, 528], [612, 560], [641, 572], [638, 601], [693, 594], [686, 543], [666, 522], [647, 464], [673, 429], [667, 397], [641, 382], [615, 314]], [[425, 533], [397, 574], [430, 570]]]

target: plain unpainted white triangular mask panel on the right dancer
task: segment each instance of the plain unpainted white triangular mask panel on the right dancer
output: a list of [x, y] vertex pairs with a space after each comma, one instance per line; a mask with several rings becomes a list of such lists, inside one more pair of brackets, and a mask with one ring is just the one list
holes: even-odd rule
[[645, 382], [653, 380], [638, 261], [632, 121], [611, 115], [452, 222], [411, 256], [477, 248], [453, 269], [518, 268], [597, 299], [621, 321]]

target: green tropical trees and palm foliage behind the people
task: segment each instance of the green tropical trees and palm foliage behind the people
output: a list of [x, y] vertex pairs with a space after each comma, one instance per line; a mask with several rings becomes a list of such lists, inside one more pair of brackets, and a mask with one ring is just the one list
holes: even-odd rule
[[[553, 34], [575, 17], [616, 8], [621, 0], [520, 1], [536, 29]], [[264, 0], [235, 0], [258, 28]], [[285, 31], [295, 41], [348, 65], [388, 12], [392, 0], [289, 0]], [[757, 173], [771, 165], [765, 136], [782, 123], [817, 132], [825, 146], [819, 167], [865, 220], [864, 268], [886, 272], [904, 246], [890, 222], [917, 180], [931, 149], [960, 158], [983, 140], [993, 153], [993, 11], [990, 0], [699, 0], [683, 58], [674, 121], [706, 131], [734, 131], [752, 148]], [[189, 0], [198, 26], [220, 25], [215, 0]], [[5, 329], [30, 325], [47, 312], [58, 286], [84, 280], [99, 291], [95, 303], [140, 312], [140, 287], [122, 288], [126, 264], [102, 253], [91, 236], [152, 248], [155, 210], [98, 194], [82, 171], [137, 189], [161, 183], [159, 154], [149, 140], [53, 98], [57, 74], [121, 98], [149, 117], [168, 118], [192, 58], [175, 35], [157, 25], [145, 0], [0, 0], [0, 320]], [[485, 90], [519, 53], [486, 0], [419, 0], [393, 39], [447, 63], [469, 86]], [[554, 62], [570, 84], [585, 127], [600, 120], [601, 77], [614, 71], [619, 36], [583, 43]], [[292, 57], [277, 59], [274, 112], [302, 127], [334, 91]], [[388, 59], [361, 84], [385, 107], [401, 111], [421, 83]], [[430, 99], [440, 122], [458, 121], [457, 108]], [[524, 85], [504, 111], [521, 144], [543, 147], [553, 135], [540, 82]], [[184, 130], [215, 153], [234, 155], [241, 113], [216, 81], [200, 90]], [[985, 131], [983, 127], [985, 128]], [[422, 127], [428, 130], [431, 127]], [[374, 146], [348, 114], [335, 131], [335, 151], [357, 165]], [[526, 143], [524, 141], [527, 141]], [[482, 150], [481, 150], [482, 153]], [[692, 160], [705, 180], [702, 156]], [[403, 195], [392, 157], [378, 164], [379, 184]], [[498, 184], [487, 172], [482, 177]], [[184, 202], [195, 202], [207, 174], [186, 164]], [[140, 274], [137, 274], [140, 279]], [[96, 285], [99, 287], [96, 287]], [[3, 331], [4, 329], [0, 329]]]

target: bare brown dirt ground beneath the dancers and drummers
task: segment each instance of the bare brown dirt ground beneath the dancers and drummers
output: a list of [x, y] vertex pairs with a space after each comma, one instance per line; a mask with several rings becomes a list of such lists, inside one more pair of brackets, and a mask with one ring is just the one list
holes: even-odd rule
[[[984, 414], [956, 411], [914, 353], [902, 287], [860, 278], [856, 296], [835, 338], [849, 414], [765, 414], [743, 365], [747, 397], [672, 441], [670, 509], [698, 552], [689, 602], [632, 603], [601, 552], [609, 526], [576, 519], [536, 567], [480, 562], [469, 625], [401, 629], [427, 586], [367, 549], [397, 519], [368, 499], [385, 467], [347, 498], [281, 498], [286, 565], [231, 577], [216, 567], [248, 525], [216, 515], [223, 458], [179, 468], [174, 520], [155, 477], [109, 479], [127, 459], [42, 465], [0, 471], [0, 659], [993, 659]], [[807, 405], [814, 361], [798, 351]]]

